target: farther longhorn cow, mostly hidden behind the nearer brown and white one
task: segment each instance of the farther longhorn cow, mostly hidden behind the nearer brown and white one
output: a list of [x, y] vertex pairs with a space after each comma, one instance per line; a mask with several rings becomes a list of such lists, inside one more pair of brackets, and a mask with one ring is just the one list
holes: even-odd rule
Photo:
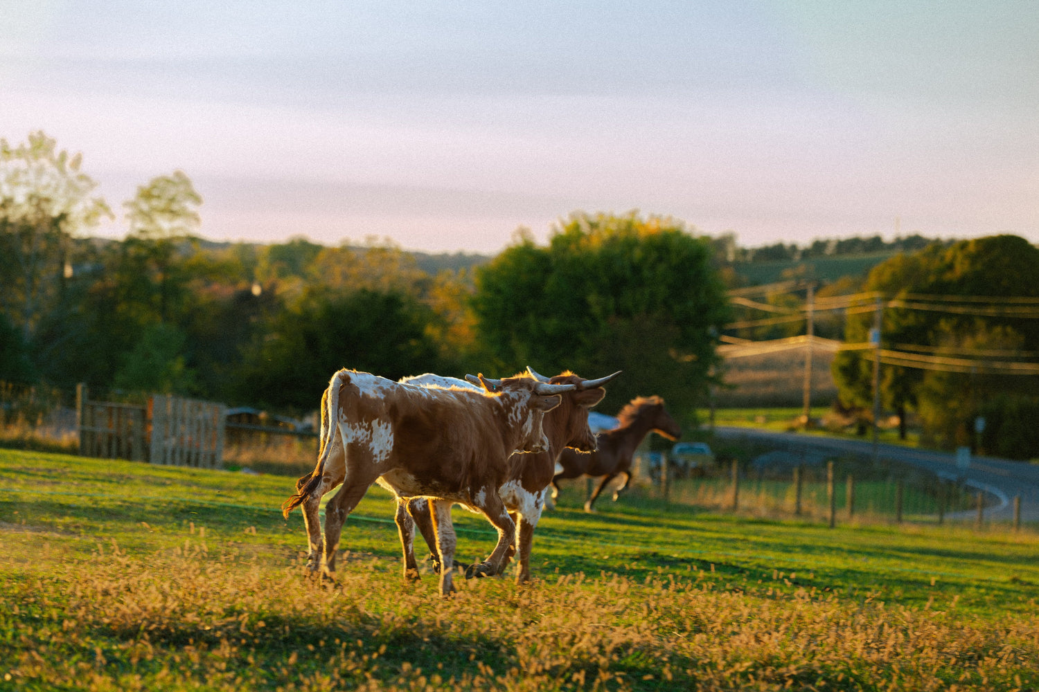
[[[541, 382], [558, 385], [574, 384], [577, 385], [577, 389], [564, 393], [560, 405], [544, 414], [541, 424], [544, 436], [549, 440], [549, 448], [540, 452], [512, 454], [508, 460], [507, 480], [498, 489], [505, 506], [516, 524], [516, 582], [518, 583], [530, 580], [530, 554], [533, 547], [534, 529], [541, 518], [544, 494], [549, 483], [552, 482], [556, 459], [563, 447], [567, 446], [582, 451], [595, 449], [595, 437], [588, 430], [588, 410], [598, 404], [606, 395], [603, 385], [620, 375], [620, 372], [614, 372], [598, 380], [585, 380], [566, 371], [550, 379], [537, 375], [531, 368], [527, 369], [531, 376]], [[401, 382], [425, 387], [467, 388], [474, 386], [462, 380], [431, 373], [404, 378]], [[429, 506], [429, 501], [426, 498], [411, 498], [400, 500], [397, 503], [396, 520], [404, 551], [405, 579], [419, 578], [414, 548], [415, 526], [419, 527], [422, 537], [429, 546], [434, 563], [439, 569], [443, 569], [444, 564], [451, 568], [451, 563], [436, 560], [436, 539]], [[502, 566], [504, 569], [505, 565]], [[476, 576], [489, 576], [477, 566], [472, 566], [467, 572], [467, 576], [474, 574]]]

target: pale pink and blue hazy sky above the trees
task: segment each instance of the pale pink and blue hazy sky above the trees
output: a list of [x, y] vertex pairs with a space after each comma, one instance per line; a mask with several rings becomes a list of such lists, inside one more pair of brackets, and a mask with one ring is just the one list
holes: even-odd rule
[[212, 240], [492, 254], [572, 212], [745, 247], [1039, 243], [1039, 2], [0, 0], [0, 137]]

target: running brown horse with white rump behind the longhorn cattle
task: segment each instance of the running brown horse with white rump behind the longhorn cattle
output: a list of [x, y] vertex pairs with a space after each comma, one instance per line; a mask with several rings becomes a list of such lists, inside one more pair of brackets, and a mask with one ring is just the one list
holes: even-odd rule
[[600, 493], [611, 480], [623, 474], [623, 482], [613, 492], [616, 501], [620, 492], [628, 488], [632, 479], [632, 454], [642, 439], [650, 432], [677, 440], [682, 427], [671, 414], [664, 408], [664, 399], [660, 396], [639, 396], [621, 409], [617, 414], [619, 424], [612, 431], [606, 431], [595, 436], [595, 451], [582, 453], [569, 447], [563, 449], [556, 465], [556, 475], [552, 479], [552, 499], [559, 496], [560, 478], [578, 478], [603, 476], [595, 492], [585, 502], [585, 511], [594, 511], [592, 504]]

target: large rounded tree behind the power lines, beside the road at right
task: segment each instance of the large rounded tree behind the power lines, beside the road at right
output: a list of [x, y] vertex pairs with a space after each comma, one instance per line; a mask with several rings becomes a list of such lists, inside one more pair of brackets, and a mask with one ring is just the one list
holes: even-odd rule
[[[933, 243], [912, 254], [897, 255], [873, 269], [862, 286], [884, 300], [912, 294], [1000, 297], [1039, 296], [1039, 249], [1016, 236], [992, 236], [954, 244]], [[950, 352], [1039, 350], [1039, 321], [1014, 316], [979, 316], [977, 310], [918, 310], [889, 307], [883, 312], [881, 344], [905, 350], [924, 347]], [[872, 313], [850, 315], [845, 339], [861, 343], [872, 327]], [[843, 352], [833, 376], [846, 405], [872, 405], [873, 364], [863, 352]], [[927, 432], [948, 445], [973, 441], [971, 421], [997, 392], [1025, 393], [1030, 378], [980, 372], [950, 372], [894, 365], [881, 366], [881, 402], [905, 420], [915, 409]], [[904, 428], [903, 428], [904, 434]]]

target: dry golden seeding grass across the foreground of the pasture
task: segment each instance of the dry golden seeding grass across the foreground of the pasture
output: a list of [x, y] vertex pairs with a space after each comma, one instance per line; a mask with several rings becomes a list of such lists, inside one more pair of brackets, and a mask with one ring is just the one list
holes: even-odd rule
[[[9, 533], [8, 533], [9, 535]], [[338, 586], [299, 565], [211, 553], [146, 558], [98, 544], [9, 582], [0, 685], [109, 690], [992, 690], [1039, 684], [1039, 618], [976, 619], [693, 573], [604, 574], [442, 601], [384, 560]], [[395, 565], [393, 565], [395, 566]], [[789, 577], [789, 579], [788, 579]], [[793, 588], [790, 587], [793, 581]]]

